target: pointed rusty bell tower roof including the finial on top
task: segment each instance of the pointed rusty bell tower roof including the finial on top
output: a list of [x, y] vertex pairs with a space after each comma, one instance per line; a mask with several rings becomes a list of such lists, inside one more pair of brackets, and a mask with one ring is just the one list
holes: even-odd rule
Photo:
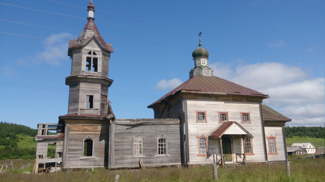
[[94, 18], [94, 11], [95, 6], [93, 5], [92, 0], [89, 2], [89, 5], [87, 6], [88, 9], [88, 22], [86, 23], [83, 31], [81, 32], [80, 36], [77, 38], [77, 40], [69, 40], [69, 50], [68, 50], [68, 56], [71, 56], [71, 49], [72, 48], [80, 48], [82, 47], [88, 39], [91, 37], [96, 37], [99, 43], [103, 46], [103, 49], [108, 52], [113, 52], [113, 47], [111, 44], [106, 44], [103, 37], [101, 37], [96, 25], [95, 25], [95, 18]]

